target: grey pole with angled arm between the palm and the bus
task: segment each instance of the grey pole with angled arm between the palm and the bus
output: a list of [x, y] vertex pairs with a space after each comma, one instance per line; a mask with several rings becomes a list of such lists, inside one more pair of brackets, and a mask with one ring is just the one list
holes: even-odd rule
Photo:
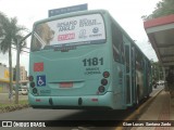
[[16, 86], [15, 86], [15, 104], [18, 104], [18, 88], [20, 88], [20, 46], [21, 43], [27, 39], [32, 32], [26, 35], [24, 38], [21, 40], [17, 39], [17, 53], [16, 53]]

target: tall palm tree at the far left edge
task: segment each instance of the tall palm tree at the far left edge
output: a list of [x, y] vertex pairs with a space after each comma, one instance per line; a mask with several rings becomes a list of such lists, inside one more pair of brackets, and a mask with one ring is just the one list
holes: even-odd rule
[[[9, 72], [10, 72], [10, 100], [12, 95], [12, 44], [16, 46], [18, 40], [23, 38], [22, 31], [26, 30], [24, 26], [17, 25], [17, 18], [9, 18], [0, 12], [0, 51], [9, 53]], [[26, 46], [26, 42], [20, 44], [20, 49]]]

